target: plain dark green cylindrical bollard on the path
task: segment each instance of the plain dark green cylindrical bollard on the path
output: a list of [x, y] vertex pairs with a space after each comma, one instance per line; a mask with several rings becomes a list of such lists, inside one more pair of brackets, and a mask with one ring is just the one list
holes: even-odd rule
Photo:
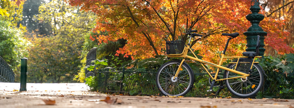
[[27, 58], [21, 58], [21, 66], [20, 66], [20, 89], [19, 91], [26, 91], [26, 76], [27, 72]]

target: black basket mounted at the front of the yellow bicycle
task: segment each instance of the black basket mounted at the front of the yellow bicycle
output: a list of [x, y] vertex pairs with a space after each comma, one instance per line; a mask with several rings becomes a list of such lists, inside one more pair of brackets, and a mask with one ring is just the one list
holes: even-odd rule
[[183, 41], [166, 41], [166, 54], [183, 53], [185, 43]]

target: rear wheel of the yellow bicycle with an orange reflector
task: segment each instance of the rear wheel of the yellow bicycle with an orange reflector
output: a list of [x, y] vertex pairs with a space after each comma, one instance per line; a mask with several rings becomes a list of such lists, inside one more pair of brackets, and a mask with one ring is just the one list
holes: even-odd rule
[[[234, 62], [234, 61], [233, 61]], [[235, 61], [236, 62], [236, 61]], [[229, 65], [228, 67], [235, 67], [235, 63]], [[230, 78], [235, 76], [241, 76], [239, 74], [225, 71], [224, 78]], [[246, 79], [237, 78], [237, 79], [226, 79], [225, 85], [227, 86], [228, 90], [235, 96], [241, 98], [247, 97], [255, 97], [256, 94], [260, 91], [263, 87], [263, 72], [260, 65], [257, 63], [253, 64], [252, 71], [250, 72], [250, 76]]]

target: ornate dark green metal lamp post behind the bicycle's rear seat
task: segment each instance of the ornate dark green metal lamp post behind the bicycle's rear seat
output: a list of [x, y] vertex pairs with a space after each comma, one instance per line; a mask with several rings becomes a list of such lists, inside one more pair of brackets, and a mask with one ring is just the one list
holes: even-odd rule
[[247, 52], [255, 52], [256, 50], [256, 43], [257, 43], [257, 35], [260, 36], [260, 48], [259, 53], [261, 56], [264, 55], [265, 46], [264, 39], [268, 33], [264, 32], [263, 29], [259, 26], [260, 21], [264, 19], [264, 15], [258, 13], [260, 11], [259, 7], [259, 0], [252, 0], [250, 6], [251, 13], [246, 15], [246, 19], [250, 21], [251, 26], [247, 29], [247, 32], [244, 32], [243, 34], [246, 36], [247, 40]]

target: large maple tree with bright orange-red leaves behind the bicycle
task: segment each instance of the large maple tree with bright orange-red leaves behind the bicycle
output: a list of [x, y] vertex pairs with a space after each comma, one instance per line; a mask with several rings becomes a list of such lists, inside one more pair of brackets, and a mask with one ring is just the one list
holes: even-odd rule
[[[117, 54], [126, 57], [150, 58], [164, 54], [164, 41], [182, 39], [188, 29], [197, 29], [202, 38], [192, 41], [191, 47], [201, 49], [204, 59], [218, 61], [219, 54], [225, 46], [225, 36], [220, 33], [239, 32], [241, 35], [230, 43], [229, 55], [240, 55], [245, 51], [245, 36], [250, 22], [245, 16], [250, 13], [248, 0], [66, 0], [71, 5], [82, 6], [83, 10], [93, 11], [97, 15], [94, 32], [107, 31], [108, 35], [92, 36], [100, 42], [126, 39], [127, 44], [117, 50]], [[270, 23], [270, 25], [266, 24]], [[265, 18], [261, 23], [269, 33], [265, 42], [277, 41], [276, 36], [284, 37], [287, 32], [278, 29], [281, 22]], [[197, 45], [195, 45], [197, 44]], [[293, 52], [293, 48], [287, 49]], [[215, 53], [217, 52], [217, 53]]]

